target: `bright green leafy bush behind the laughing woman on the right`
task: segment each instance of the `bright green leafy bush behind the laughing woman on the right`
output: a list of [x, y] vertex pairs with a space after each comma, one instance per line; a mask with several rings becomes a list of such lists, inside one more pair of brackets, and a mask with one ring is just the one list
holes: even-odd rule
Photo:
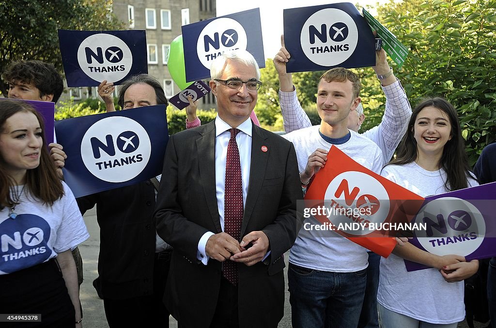
[[496, 140], [495, 0], [405, 0], [378, 19], [410, 48], [395, 75], [412, 106], [442, 96], [458, 110], [471, 164]]

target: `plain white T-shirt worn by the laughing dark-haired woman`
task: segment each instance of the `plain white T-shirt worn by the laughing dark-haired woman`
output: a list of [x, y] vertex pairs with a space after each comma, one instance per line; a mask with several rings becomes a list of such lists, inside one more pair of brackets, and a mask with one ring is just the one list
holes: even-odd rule
[[[427, 171], [412, 162], [388, 165], [381, 175], [422, 196], [448, 191], [444, 170]], [[469, 179], [469, 186], [478, 183]], [[465, 318], [463, 281], [446, 282], [436, 268], [408, 272], [402, 258], [380, 259], [377, 301], [386, 309], [432, 324], [452, 324]]]

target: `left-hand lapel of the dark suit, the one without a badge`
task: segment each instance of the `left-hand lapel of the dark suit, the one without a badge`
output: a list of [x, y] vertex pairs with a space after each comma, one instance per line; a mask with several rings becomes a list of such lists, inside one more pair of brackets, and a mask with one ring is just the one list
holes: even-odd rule
[[196, 140], [196, 151], [198, 153], [198, 166], [200, 171], [201, 185], [207, 200], [208, 210], [217, 233], [222, 232], [219, 219], [219, 208], [215, 191], [215, 121], [202, 126], [202, 136]]

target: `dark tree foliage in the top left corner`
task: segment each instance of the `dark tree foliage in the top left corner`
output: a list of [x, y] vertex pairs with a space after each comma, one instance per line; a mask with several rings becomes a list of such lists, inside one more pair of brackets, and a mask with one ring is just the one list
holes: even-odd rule
[[[40, 60], [62, 71], [57, 29], [112, 30], [124, 25], [112, 0], [0, 1], [0, 73], [14, 60]], [[3, 79], [0, 91], [6, 94]]]

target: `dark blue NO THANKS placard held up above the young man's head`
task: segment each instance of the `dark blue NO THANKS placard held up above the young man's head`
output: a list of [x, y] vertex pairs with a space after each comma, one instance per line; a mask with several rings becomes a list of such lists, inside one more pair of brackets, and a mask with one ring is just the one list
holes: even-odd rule
[[374, 36], [351, 3], [284, 9], [288, 72], [375, 65]]

